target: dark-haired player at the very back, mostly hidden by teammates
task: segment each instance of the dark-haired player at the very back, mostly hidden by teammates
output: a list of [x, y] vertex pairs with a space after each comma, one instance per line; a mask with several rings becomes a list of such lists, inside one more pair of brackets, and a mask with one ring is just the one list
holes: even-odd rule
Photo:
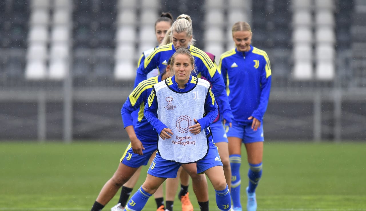
[[[160, 15], [160, 18], [158, 18], [155, 22], [155, 37], [156, 37], [156, 41], [157, 43], [160, 45], [161, 42], [163, 42], [163, 39], [168, 31], [168, 29], [172, 26], [174, 22], [173, 16], [172, 14], [170, 14], [169, 12], [163, 12]], [[141, 63], [143, 63], [145, 61], [145, 58], [154, 50], [156, 49], [158, 46], [143, 51], [140, 59], [138, 60], [138, 65], [139, 66]], [[150, 77], [154, 77], [154, 76], [158, 76], [159, 72], [157, 69], [153, 69], [151, 70], [148, 74], [147, 74], [147, 78]], [[133, 116], [133, 123], [136, 124], [138, 122], [138, 111], [134, 111], [132, 112], [132, 116]], [[152, 157], [150, 158], [150, 161], [152, 161], [155, 157], [155, 153], [152, 154]], [[132, 189], [134, 188], [134, 186], [136, 185], [138, 178], [140, 176], [141, 173], [141, 167], [136, 171], [136, 173], [134, 173], [134, 175], [127, 181], [127, 183], [123, 184], [122, 186], [122, 190], [121, 190], [121, 194], [118, 200], [118, 204], [114, 207], [112, 207], [111, 211], [122, 211], [124, 209], [124, 206], [126, 206], [126, 203], [128, 201], [128, 197], [130, 197], [130, 194], [132, 192]], [[170, 185], [175, 185], [174, 183], [177, 183], [176, 181], [169, 181], [169, 183], [172, 183]], [[157, 204], [157, 211], [165, 211], [165, 207], [164, 207], [164, 198], [163, 198], [163, 187], [160, 187], [158, 189], [158, 191], [154, 194], [155, 197], [155, 201]], [[167, 200], [167, 206], [171, 207], [173, 206], [173, 201], [171, 200]]]

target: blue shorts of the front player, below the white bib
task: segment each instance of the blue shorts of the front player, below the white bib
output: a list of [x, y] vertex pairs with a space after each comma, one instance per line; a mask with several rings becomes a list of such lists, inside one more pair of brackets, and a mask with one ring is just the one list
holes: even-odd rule
[[[219, 151], [217, 146], [213, 142], [209, 142], [209, 150], [205, 157], [196, 162], [197, 164], [197, 174], [205, 172], [205, 170], [212, 168], [214, 166], [222, 166], [223, 163], [220, 160]], [[147, 173], [161, 178], [175, 178], [177, 177], [177, 172], [182, 164], [175, 161], [165, 160], [160, 157], [159, 153], [150, 165]]]

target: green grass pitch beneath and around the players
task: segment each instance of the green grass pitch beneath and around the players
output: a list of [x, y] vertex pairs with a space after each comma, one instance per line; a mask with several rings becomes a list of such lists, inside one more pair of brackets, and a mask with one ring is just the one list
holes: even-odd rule
[[[90, 210], [127, 144], [0, 142], [0, 210]], [[264, 150], [258, 211], [366, 211], [366, 143], [268, 141]], [[245, 154], [242, 167], [245, 206]], [[143, 180], [145, 174], [138, 185]], [[210, 210], [218, 210], [210, 184], [209, 188]], [[190, 193], [199, 210], [191, 189]], [[118, 197], [119, 192], [104, 210]], [[144, 210], [155, 207], [152, 197]], [[178, 200], [174, 207], [180, 210]]]

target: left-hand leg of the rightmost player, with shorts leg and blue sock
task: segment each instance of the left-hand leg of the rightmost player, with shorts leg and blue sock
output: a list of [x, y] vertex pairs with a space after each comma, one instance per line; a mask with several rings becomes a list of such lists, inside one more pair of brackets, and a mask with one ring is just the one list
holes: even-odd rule
[[229, 148], [229, 161], [231, 167], [231, 199], [234, 210], [241, 210], [242, 204], [240, 203], [240, 166], [242, 164], [242, 140], [244, 136], [244, 127], [232, 123], [232, 127], [228, 128], [228, 148]]

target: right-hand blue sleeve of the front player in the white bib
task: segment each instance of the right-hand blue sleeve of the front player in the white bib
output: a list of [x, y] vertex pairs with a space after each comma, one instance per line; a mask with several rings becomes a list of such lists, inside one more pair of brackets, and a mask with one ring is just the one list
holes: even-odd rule
[[205, 100], [205, 113], [206, 115], [201, 118], [197, 119], [197, 122], [201, 125], [201, 131], [206, 129], [210, 124], [215, 120], [218, 114], [217, 104], [215, 102], [215, 97], [209, 89], [208, 95], [206, 96]]

